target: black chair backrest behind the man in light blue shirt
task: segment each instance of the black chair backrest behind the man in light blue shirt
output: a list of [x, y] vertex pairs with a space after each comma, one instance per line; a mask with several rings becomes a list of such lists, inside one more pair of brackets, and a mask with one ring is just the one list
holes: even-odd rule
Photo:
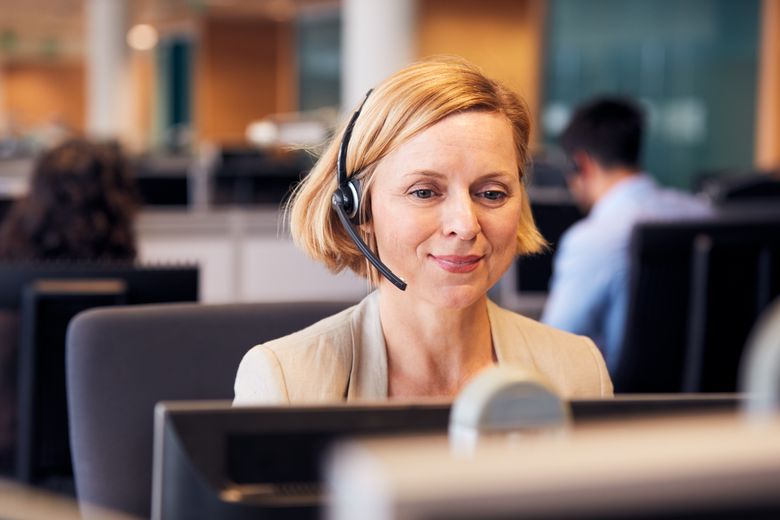
[[633, 232], [618, 392], [731, 392], [759, 313], [780, 293], [780, 218], [643, 223]]

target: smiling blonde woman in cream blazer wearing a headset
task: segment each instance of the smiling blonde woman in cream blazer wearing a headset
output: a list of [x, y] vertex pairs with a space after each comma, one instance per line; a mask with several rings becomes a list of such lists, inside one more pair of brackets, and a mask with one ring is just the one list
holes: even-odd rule
[[522, 184], [529, 131], [525, 104], [463, 61], [414, 64], [371, 92], [297, 189], [290, 224], [310, 256], [376, 291], [250, 350], [235, 403], [451, 397], [495, 363], [564, 397], [611, 395], [589, 339], [487, 298], [516, 254], [544, 245]]

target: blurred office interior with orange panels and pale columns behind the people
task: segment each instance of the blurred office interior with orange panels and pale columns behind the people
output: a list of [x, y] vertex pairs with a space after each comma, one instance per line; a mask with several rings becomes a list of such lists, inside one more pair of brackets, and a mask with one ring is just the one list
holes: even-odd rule
[[[434, 54], [528, 101], [539, 200], [563, 188], [557, 134], [597, 94], [642, 102], [644, 164], [666, 185], [711, 195], [780, 164], [773, 0], [0, 0], [0, 12], [4, 207], [63, 136], [118, 138], [145, 201], [141, 259], [198, 262], [207, 302], [365, 293], [295, 251], [279, 205], [340, 115]], [[553, 242], [565, 227], [547, 226]], [[527, 273], [543, 293], [549, 267]]]

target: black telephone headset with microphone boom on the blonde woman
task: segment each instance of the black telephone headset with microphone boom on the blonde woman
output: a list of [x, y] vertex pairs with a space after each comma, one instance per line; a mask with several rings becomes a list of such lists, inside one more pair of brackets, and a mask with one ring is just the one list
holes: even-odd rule
[[341, 224], [347, 231], [347, 234], [355, 243], [355, 245], [363, 253], [363, 256], [376, 267], [382, 275], [390, 280], [390, 282], [401, 289], [406, 290], [406, 282], [401, 278], [393, 274], [393, 272], [385, 264], [382, 263], [377, 256], [371, 252], [368, 245], [360, 238], [355, 226], [360, 224], [360, 181], [355, 179], [355, 175], [359, 172], [353, 172], [352, 175], [347, 174], [347, 148], [349, 147], [349, 140], [352, 137], [352, 128], [355, 126], [360, 111], [363, 110], [363, 105], [366, 104], [368, 96], [371, 95], [371, 90], [366, 93], [365, 99], [360, 104], [355, 113], [349, 120], [347, 129], [344, 130], [344, 135], [341, 138], [341, 144], [339, 145], [339, 155], [336, 158], [336, 175], [338, 175], [339, 186], [333, 193], [331, 203], [333, 209], [339, 216]]

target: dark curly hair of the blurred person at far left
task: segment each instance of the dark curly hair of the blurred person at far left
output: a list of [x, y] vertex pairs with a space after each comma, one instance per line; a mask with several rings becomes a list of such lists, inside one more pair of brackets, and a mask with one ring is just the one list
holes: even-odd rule
[[139, 198], [117, 143], [72, 139], [37, 161], [0, 227], [0, 260], [133, 260]]

